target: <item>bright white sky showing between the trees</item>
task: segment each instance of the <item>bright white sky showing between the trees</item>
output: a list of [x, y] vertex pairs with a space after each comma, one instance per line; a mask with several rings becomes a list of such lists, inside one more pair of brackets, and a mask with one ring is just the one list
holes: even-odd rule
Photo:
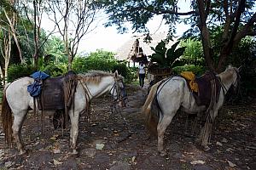
[[[181, 0], [181, 8], [179, 12], [184, 12], [189, 8], [189, 0]], [[107, 22], [108, 20], [102, 20], [102, 23]], [[53, 24], [50, 24], [50, 20], [46, 15], [44, 15], [42, 20], [42, 27], [46, 31], [51, 31], [54, 27]], [[164, 21], [161, 24], [161, 16], [154, 16], [153, 20], [149, 20], [147, 27], [150, 33], [154, 32], [163, 32], [168, 31], [168, 26], [164, 25]], [[129, 26], [128, 26], [129, 28]], [[79, 52], [90, 53], [96, 51], [96, 49], [103, 49], [106, 51], [116, 52], [116, 50], [121, 47], [125, 42], [127, 42], [131, 37], [141, 35], [139, 33], [131, 33], [131, 27], [129, 28], [130, 32], [120, 34], [118, 33], [116, 26], [104, 27], [101, 23], [98, 24], [94, 31], [91, 31], [90, 34], [85, 35], [82, 41], [79, 43]], [[188, 26], [183, 24], [177, 25], [177, 37], [181, 36], [184, 31], [189, 29]]]

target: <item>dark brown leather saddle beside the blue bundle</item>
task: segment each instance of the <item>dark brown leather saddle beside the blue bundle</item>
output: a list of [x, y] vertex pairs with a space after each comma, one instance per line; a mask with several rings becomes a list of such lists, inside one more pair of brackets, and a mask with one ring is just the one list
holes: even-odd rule
[[73, 71], [68, 71], [65, 76], [44, 80], [42, 93], [38, 97], [39, 111], [67, 110], [73, 104], [76, 86], [76, 74]]

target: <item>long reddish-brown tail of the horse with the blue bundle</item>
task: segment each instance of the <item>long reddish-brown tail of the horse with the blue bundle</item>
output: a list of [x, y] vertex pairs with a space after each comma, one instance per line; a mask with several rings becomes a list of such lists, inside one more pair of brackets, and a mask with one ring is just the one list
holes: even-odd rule
[[3, 133], [5, 142], [10, 145], [13, 139], [13, 120], [12, 120], [12, 111], [9, 107], [9, 103], [6, 98], [6, 89], [3, 90], [3, 99], [2, 99], [2, 111], [1, 111], [1, 119], [2, 119], [2, 126], [3, 126]]

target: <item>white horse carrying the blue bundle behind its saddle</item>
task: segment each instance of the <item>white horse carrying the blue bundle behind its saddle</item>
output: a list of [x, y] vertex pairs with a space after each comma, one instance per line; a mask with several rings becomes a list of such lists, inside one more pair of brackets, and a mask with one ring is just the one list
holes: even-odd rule
[[[77, 139], [79, 134], [79, 114], [84, 111], [89, 100], [99, 97], [102, 94], [110, 92], [115, 100], [121, 97], [121, 90], [125, 90], [123, 77], [103, 71], [90, 71], [85, 75], [78, 75], [78, 85], [74, 94], [74, 105], [68, 112], [71, 121], [70, 144], [73, 154], [77, 154]], [[34, 80], [31, 77], [22, 77], [9, 84], [4, 90], [2, 121], [5, 138], [10, 141], [15, 137], [17, 148], [20, 154], [26, 153], [24, 144], [21, 141], [21, 127], [25, 120], [29, 108], [33, 108], [33, 98], [27, 92], [26, 88]], [[120, 94], [119, 94], [120, 93]], [[11, 112], [15, 119], [12, 122]], [[54, 113], [54, 111], [51, 111]], [[13, 133], [13, 134], [12, 134]]]

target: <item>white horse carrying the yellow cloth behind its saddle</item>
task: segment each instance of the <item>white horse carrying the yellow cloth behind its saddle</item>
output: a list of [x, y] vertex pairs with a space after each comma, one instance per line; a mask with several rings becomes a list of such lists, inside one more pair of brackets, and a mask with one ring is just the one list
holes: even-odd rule
[[[236, 88], [239, 70], [240, 69], [236, 67], [229, 66], [224, 72], [217, 75], [222, 89], [220, 90], [217, 102], [216, 100], [214, 101], [212, 109], [209, 111], [212, 122], [218, 115], [218, 110], [224, 104], [224, 95], [227, 93], [230, 86], [234, 85]], [[152, 111], [152, 105], [155, 104], [155, 101], [158, 103], [158, 114]], [[178, 109], [189, 114], [196, 114], [201, 111], [206, 111], [207, 108], [204, 105], [197, 105], [195, 103], [195, 98], [189, 91], [188, 84], [183, 77], [172, 77], [164, 83], [160, 81], [154, 84], [143, 105], [143, 114], [146, 117], [149, 130], [157, 131], [158, 151], [161, 156], [166, 155], [166, 150], [164, 150], [164, 133]], [[206, 149], [208, 149], [207, 144], [211, 131], [212, 127], [207, 126], [207, 123], [201, 129], [201, 145]]]

